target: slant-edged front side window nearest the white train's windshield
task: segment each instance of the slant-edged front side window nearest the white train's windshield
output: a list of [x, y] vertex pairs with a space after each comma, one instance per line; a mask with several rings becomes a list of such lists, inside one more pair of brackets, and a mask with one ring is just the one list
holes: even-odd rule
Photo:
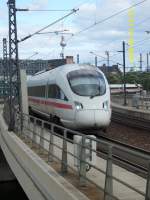
[[56, 84], [51, 84], [48, 86], [48, 98], [61, 99], [68, 101], [64, 92]]

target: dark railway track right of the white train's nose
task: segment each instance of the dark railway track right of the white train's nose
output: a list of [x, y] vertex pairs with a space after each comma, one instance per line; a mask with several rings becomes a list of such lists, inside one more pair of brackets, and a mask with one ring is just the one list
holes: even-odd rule
[[122, 114], [120, 112], [112, 111], [112, 121], [120, 124], [127, 125], [133, 128], [139, 128], [143, 130], [150, 130], [150, 120], [140, 119], [128, 114]]

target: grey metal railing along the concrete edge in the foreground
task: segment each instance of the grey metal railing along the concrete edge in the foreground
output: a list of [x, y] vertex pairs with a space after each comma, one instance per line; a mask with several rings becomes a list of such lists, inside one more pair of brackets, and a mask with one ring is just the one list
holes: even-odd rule
[[[16, 115], [15, 121], [16, 134], [27, 139], [32, 147], [36, 145], [39, 152], [44, 150], [47, 153], [46, 158], [48, 162], [54, 162], [55, 160], [59, 161], [61, 164], [60, 171], [63, 176], [69, 173], [69, 170], [73, 170], [74, 172], [76, 172], [76, 176], [78, 176], [79, 178], [79, 183], [81, 187], [87, 186], [88, 183], [93, 184], [98, 191], [101, 190], [103, 192], [105, 200], [119, 200], [119, 197], [114, 194], [114, 182], [117, 182], [118, 184], [125, 186], [129, 190], [134, 191], [138, 195], [143, 196], [143, 199], [150, 200], [150, 156], [142, 154], [141, 152], [129, 150], [125, 147], [110, 144], [106, 141], [84, 135], [77, 131], [69, 130], [67, 128], [55, 125], [34, 116], [26, 114], [23, 115], [22, 130], [20, 129], [19, 114]], [[71, 139], [71, 137], [73, 137], [74, 135], [81, 136], [80, 143], [77, 143]], [[90, 142], [96, 142], [97, 145], [106, 145], [108, 153], [106, 161], [103, 160], [103, 162], [105, 162], [105, 166], [103, 168], [99, 166], [98, 162], [99, 151], [93, 148], [92, 145], [87, 145], [87, 140]], [[78, 155], [74, 153], [74, 150], [70, 150], [70, 143], [78, 145], [80, 149]], [[145, 179], [146, 187], [144, 191], [139, 190], [138, 188], [136, 188], [136, 186], [133, 186], [129, 182], [124, 181], [113, 175], [113, 166], [115, 165], [113, 157], [114, 149], [120, 149], [121, 151], [127, 152], [131, 155], [135, 155], [138, 158], [147, 160], [148, 173], [147, 178]], [[87, 154], [90, 154], [91, 156], [92, 153], [97, 156], [97, 164], [92, 163], [90, 162], [90, 159], [87, 159]], [[78, 167], [74, 166], [74, 159], [76, 159], [79, 163]], [[92, 179], [91, 176], [89, 176], [90, 171], [87, 172], [89, 169], [93, 170], [94, 173], [96, 173], [96, 177], [101, 177], [102, 175], [105, 177], [103, 186], [102, 184], [100, 184], [100, 178], [98, 182], [95, 181], [95, 179]]]

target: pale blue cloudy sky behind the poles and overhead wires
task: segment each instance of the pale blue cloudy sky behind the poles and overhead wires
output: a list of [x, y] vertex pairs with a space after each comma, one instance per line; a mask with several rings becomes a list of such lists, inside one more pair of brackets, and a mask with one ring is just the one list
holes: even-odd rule
[[[84, 28], [109, 17], [110, 15], [128, 8], [142, 0], [16, 0], [17, 8], [30, 9], [73, 9], [79, 8], [76, 14], [71, 15], [65, 20], [51, 26], [45, 31], [58, 31], [67, 29], [68, 35], [64, 35], [67, 46], [65, 55], [80, 54], [81, 62], [94, 62], [94, 56], [89, 52], [98, 54], [98, 63], [106, 63], [100, 56], [106, 57], [105, 51], [110, 52], [110, 63], [122, 62], [122, 54], [118, 50], [122, 49], [122, 41], [128, 43], [129, 40], [129, 15], [128, 11], [123, 12], [103, 23], [100, 23], [87, 31], [76, 34]], [[2, 57], [2, 39], [8, 38], [8, 8], [7, 1], [1, 0], [0, 3], [0, 57]], [[134, 8], [134, 62], [139, 66], [139, 54], [143, 54], [143, 65], [146, 66], [146, 53], [150, 51], [150, 0]], [[52, 23], [68, 12], [18, 12], [17, 28], [18, 39], [32, 34], [43, 26]], [[74, 36], [71, 36], [74, 34]], [[59, 58], [61, 35], [35, 35], [19, 44], [19, 57], [28, 58], [34, 52], [38, 54], [34, 59], [53, 59]], [[143, 40], [143, 41], [142, 41]], [[128, 61], [128, 46], [126, 46], [127, 66], [131, 66]]]

